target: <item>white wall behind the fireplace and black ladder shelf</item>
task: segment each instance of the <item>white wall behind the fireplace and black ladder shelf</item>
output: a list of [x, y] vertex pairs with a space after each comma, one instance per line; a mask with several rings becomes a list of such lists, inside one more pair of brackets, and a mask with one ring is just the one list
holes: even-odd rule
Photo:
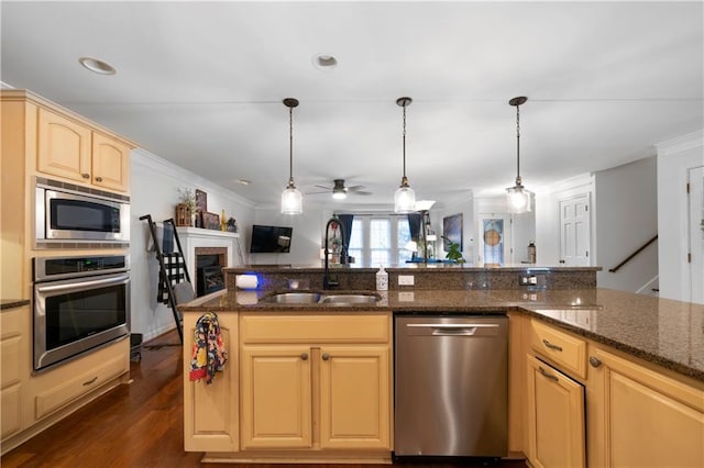
[[[208, 211], [221, 213], [224, 209], [227, 218], [238, 221], [244, 250], [249, 247], [249, 232], [243, 227], [252, 225], [254, 207], [234, 192], [144, 149], [133, 151], [131, 159], [132, 333], [142, 333], [144, 339], [150, 339], [174, 328], [175, 323], [172, 310], [156, 302], [158, 263], [154, 253], [146, 250], [148, 229], [146, 221], [140, 221], [139, 218], [144, 214], [151, 214], [155, 221], [174, 218], [178, 189], [200, 189], [208, 193]], [[195, 271], [189, 274], [193, 276]]]

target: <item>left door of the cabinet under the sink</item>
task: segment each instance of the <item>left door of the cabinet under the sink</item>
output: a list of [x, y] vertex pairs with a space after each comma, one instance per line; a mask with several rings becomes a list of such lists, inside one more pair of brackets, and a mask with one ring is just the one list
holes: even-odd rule
[[246, 448], [312, 446], [309, 346], [241, 348], [241, 445]]

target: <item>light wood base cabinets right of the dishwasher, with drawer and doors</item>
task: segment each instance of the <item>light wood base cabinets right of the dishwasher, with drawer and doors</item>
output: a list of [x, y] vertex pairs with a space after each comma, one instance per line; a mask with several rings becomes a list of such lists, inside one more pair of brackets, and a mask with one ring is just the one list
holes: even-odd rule
[[512, 324], [514, 408], [526, 397], [512, 433], [531, 466], [704, 466], [703, 382], [537, 319]]

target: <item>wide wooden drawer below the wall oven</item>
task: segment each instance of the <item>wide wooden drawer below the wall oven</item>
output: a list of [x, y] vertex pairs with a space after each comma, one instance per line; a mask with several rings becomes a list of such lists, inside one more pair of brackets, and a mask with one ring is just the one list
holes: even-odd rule
[[128, 370], [123, 356], [114, 357], [90, 372], [67, 380], [36, 397], [36, 419], [41, 419], [66, 403], [88, 393]]

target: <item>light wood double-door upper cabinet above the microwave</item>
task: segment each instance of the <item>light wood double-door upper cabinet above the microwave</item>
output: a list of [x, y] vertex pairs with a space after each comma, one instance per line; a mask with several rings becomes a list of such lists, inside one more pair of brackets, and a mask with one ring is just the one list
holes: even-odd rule
[[130, 146], [56, 112], [38, 110], [37, 170], [121, 192], [130, 188]]

